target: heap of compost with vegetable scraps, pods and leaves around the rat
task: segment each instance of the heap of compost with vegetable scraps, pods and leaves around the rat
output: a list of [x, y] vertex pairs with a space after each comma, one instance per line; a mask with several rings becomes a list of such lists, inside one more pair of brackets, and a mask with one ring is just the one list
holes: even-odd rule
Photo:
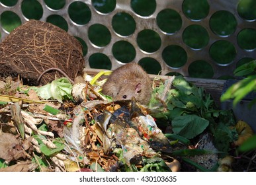
[[102, 94], [109, 71], [83, 73], [75, 84], [45, 78], [40, 86], [24, 85], [21, 71], [6, 74], [0, 171], [255, 171], [255, 150], [239, 150], [252, 129], [181, 76], [155, 76], [146, 106]]

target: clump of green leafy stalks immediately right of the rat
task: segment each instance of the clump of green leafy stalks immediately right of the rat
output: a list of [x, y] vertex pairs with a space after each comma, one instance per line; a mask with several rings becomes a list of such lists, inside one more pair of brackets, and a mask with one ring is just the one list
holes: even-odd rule
[[151, 116], [161, 122], [171, 122], [173, 133], [187, 139], [196, 137], [204, 130], [210, 131], [217, 149], [227, 152], [230, 142], [237, 139], [237, 132], [230, 128], [236, 123], [233, 112], [218, 110], [210, 94], [182, 76], [175, 77], [172, 85], [174, 88], [167, 93], [166, 106], [157, 98], [165, 92], [165, 86], [160, 85], [153, 90], [149, 102]]

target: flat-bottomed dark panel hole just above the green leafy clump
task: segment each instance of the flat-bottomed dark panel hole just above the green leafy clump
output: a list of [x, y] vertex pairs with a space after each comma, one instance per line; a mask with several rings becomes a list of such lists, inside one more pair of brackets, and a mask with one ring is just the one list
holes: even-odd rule
[[197, 60], [189, 65], [189, 76], [193, 78], [210, 79], [214, 75], [212, 65], [207, 61]]

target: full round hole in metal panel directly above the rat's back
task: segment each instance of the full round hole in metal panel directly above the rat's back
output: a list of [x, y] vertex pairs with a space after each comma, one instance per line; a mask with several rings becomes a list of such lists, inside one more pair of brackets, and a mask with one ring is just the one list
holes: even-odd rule
[[127, 41], [118, 41], [112, 46], [112, 53], [114, 57], [122, 63], [128, 63], [134, 60], [136, 56], [136, 50], [134, 46]]

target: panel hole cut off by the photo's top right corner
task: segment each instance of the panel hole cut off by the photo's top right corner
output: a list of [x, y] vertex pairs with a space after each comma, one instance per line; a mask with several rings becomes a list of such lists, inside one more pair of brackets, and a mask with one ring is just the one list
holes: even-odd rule
[[245, 20], [256, 20], [256, 1], [240, 0], [237, 11], [239, 16]]

